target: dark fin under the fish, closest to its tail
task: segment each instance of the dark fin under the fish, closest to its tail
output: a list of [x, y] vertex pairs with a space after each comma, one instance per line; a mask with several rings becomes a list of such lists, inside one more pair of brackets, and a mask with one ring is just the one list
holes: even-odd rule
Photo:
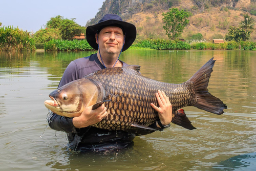
[[183, 109], [179, 109], [175, 112], [175, 117], [173, 117], [172, 122], [188, 130], [196, 129], [196, 127], [194, 127], [190, 120], [187, 118]]

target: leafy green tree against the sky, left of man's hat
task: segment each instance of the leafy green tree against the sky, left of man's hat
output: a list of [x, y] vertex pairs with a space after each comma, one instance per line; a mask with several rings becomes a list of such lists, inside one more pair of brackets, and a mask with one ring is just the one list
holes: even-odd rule
[[58, 15], [52, 17], [46, 24], [47, 28], [59, 29], [61, 38], [65, 40], [72, 40], [75, 35], [80, 34], [84, 29], [74, 22], [75, 18], [67, 19]]

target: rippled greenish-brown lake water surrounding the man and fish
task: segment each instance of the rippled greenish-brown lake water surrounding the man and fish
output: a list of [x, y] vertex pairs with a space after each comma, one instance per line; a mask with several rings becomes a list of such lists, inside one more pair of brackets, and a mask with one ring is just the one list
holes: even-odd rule
[[[44, 101], [69, 62], [93, 52], [0, 52], [0, 170], [255, 170], [256, 51], [132, 51], [121, 60], [152, 79], [181, 83], [214, 57], [209, 92], [223, 115], [184, 108], [196, 130], [171, 124], [114, 153], [66, 150]], [[254, 168], [254, 169], [253, 169]]]

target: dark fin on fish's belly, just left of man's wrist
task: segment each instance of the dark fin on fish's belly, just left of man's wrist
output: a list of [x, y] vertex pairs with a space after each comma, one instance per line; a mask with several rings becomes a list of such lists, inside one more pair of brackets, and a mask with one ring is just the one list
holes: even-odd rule
[[131, 129], [130, 130], [126, 130], [127, 132], [133, 133], [136, 136], [138, 135], [146, 135], [146, 134], [151, 134], [157, 130], [153, 129], [152, 127], [148, 127], [145, 125], [140, 125], [136, 122], [131, 124]]

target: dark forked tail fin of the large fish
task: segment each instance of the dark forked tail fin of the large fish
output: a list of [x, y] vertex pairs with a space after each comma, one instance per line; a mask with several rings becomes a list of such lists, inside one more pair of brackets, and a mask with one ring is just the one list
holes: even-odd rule
[[213, 71], [214, 63], [216, 60], [211, 58], [205, 65], [198, 70], [188, 81], [194, 83], [197, 102], [194, 104], [198, 109], [205, 110], [217, 115], [224, 113], [224, 109], [227, 109], [226, 104], [223, 103], [219, 98], [212, 96], [208, 92], [208, 83], [210, 74]]

